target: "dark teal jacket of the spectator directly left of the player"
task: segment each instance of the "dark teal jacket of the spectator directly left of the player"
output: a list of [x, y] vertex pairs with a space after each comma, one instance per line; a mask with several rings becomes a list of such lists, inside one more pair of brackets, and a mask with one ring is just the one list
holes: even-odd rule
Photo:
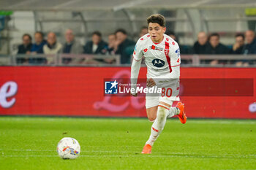
[[135, 42], [130, 39], [125, 39], [124, 42], [121, 42], [121, 44], [118, 45], [116, 54], [121, 55], [121, 63], [130, 63], [130, 55], [132, 55], [134, 47]]

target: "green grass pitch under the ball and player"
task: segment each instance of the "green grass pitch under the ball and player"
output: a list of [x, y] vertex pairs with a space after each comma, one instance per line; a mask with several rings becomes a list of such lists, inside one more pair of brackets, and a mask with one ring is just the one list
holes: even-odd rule
[[[256, 169], [256, 120], [167, 120], [151, 155], [142, 118], [0, 117], [0, 169]], [[75, 160], [56, 152], [80, 142]]]

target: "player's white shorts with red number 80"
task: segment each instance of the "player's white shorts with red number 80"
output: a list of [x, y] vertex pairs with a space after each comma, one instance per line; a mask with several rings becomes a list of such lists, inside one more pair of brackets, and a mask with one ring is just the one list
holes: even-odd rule
[[[162, 93], [160, 93], [159, 96], [152, 96], [146, 93], [146, 109], [158, 106], [160, 101], [170, 106], [172, 106], [173, 101], [180, 101], [178, 97], [179, 80], [165, 83], [163, 86], [165, 87], [162, 87]], [[161, 87], [161, 85], [159, 85], [159, 87]]]

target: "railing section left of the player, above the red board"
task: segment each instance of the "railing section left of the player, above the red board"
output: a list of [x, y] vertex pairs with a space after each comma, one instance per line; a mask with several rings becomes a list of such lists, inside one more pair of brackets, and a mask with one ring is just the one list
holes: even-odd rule
[[109, 66], [110, 64], [119, 66], [120, 55], [0, 55], [1, 66]]

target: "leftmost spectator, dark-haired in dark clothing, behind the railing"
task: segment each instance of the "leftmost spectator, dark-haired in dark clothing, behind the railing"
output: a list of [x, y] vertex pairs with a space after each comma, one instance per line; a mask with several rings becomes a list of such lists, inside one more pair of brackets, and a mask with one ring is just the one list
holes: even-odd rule
[[[32, 37], [29, 34], [23, 34], [23, 43], [18, 46], [18, 54], [29, 54], [32, 47]], [[26, 63], [28, 58], [17, 58], [17, 63]]]

